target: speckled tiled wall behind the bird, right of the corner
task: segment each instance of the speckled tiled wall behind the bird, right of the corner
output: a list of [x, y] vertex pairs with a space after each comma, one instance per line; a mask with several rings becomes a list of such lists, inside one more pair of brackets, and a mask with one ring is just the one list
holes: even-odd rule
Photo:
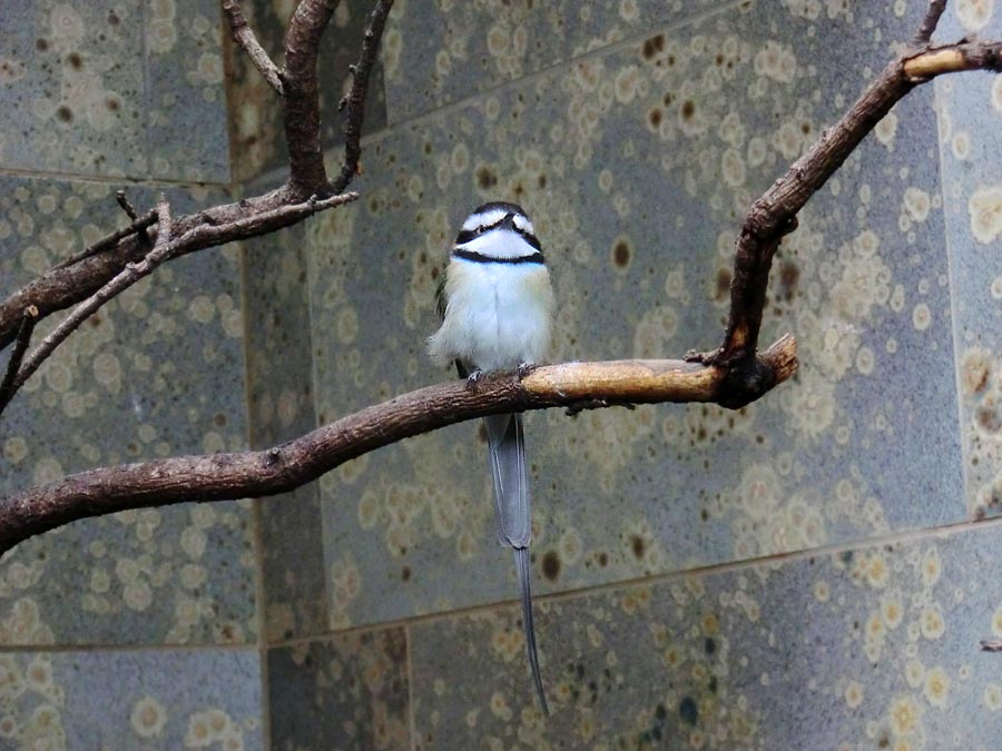
[[[1002, 33], [951, 6], [941, 38]], [[313, 401], [286, 404], [326, 422], [449, 377], [433, 291], [493, 198], [546, 247], [553, 359], [715, 346], [744, 210], [925, 7], [397, 4], [363, 199], [288, 243], [308, 309], [272, 298], [303, 346], [310, 320]], [[797, 336], [795, 382], [738, 413], [528, 416], [552, 717], [477, 425], [287, 510], [322, 528], [272, 551], [274, 748], [993, 748], [1002, 530], [973, 522], [1002, 503], [1000, 92], [920, 88], [802, 213], [764, 335]]]

